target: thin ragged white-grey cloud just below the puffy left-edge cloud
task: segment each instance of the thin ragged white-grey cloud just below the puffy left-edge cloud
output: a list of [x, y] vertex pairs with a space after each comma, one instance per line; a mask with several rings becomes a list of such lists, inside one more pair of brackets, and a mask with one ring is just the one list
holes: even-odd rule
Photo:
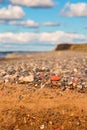
[[17, 25], [17, 26], [24, 26], [29, 28], [38, 28], [40, 25], [39, 23], [36, 23], [33, 20], [27, 20], [27, 21], [10, 21], [8, 22], [10, 25]]

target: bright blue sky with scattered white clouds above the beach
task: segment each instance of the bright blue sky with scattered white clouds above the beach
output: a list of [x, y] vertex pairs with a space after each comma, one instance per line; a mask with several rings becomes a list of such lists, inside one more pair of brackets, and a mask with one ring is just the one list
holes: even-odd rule
[[0, 0], [0, 51], [87, 43], [87, 0]]

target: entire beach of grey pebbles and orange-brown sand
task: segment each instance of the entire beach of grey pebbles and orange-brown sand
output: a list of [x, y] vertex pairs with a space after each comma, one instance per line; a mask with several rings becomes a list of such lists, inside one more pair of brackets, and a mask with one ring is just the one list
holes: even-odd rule
[[86, 52], [0, 60], [0, 130], [86, 130], [86, 96]]

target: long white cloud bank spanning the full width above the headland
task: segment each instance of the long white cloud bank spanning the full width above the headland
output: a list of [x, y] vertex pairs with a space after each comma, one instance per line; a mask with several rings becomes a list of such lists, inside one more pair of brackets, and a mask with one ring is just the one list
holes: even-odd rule
[[58, 43], [73, 43], [73, 42], [87, 42], [87, 36], [83, 34], [67, 33], [63, 31], [56, 31], [52, 33], [1, 33], [0, 43], [5, 44], [58, 44]]

